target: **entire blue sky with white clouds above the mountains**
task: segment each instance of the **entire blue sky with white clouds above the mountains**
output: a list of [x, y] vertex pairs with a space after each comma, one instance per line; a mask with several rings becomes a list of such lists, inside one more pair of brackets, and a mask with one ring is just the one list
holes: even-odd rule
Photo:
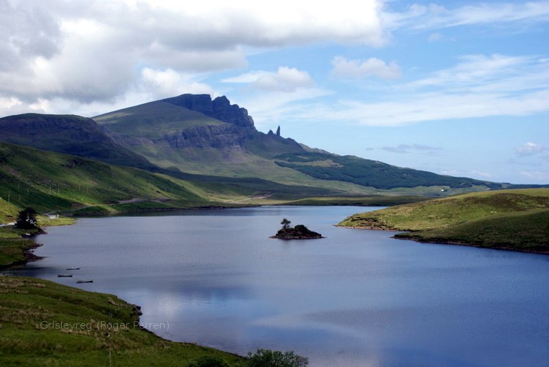
[[260, 131], [549, 184], [549, 1], [0, 0], [0, 116], [226, 95]]

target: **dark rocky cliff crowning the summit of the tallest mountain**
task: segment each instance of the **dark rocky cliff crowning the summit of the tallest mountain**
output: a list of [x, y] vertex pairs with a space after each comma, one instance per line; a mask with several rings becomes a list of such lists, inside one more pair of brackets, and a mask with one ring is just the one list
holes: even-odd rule
[[200, 112], [224, 123], [253, 128], [253, 118], [248, 116], [248, 110], [231, 105], [225, 96], [212, 100], [209, 94], [181, 94], [163, 101]]

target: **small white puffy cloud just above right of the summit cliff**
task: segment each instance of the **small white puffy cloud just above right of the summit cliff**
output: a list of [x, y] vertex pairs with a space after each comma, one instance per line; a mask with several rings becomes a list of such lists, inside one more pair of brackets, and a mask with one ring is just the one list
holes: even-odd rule
[[276, 73], [251, 71], [222, 81], [225, 83], [250, 84], [254, 88], [268, 92], [294, 92], [296, 89], [307, 88], [314, 84], [309, 73], [288, 66], [279, 66]]

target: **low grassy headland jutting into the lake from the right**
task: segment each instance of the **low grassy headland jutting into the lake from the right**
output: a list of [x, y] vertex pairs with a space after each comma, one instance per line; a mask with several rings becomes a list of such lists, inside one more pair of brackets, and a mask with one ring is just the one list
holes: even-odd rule
[[474, 192], [355, 214], [338, 225], [397, 238], [549, 253], [549, 189]]

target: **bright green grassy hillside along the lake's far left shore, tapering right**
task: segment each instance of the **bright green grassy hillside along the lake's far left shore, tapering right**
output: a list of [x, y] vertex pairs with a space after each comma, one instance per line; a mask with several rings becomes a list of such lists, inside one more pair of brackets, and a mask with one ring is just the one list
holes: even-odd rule
[[[40, 213], [75, 215], [240, 207], [281, 204], [308, 197], [337, 204], [385, 205], [420, 200], [370, 195], [342, 197], [342, 190], [277, 184], [259, 178], [192, 175], [178, 170], [153, 173], [74, 155], [0, 144], [0, 224], [14, 221], [24, 207]], [[9, 202], [8, 202], [9, 201]]]

